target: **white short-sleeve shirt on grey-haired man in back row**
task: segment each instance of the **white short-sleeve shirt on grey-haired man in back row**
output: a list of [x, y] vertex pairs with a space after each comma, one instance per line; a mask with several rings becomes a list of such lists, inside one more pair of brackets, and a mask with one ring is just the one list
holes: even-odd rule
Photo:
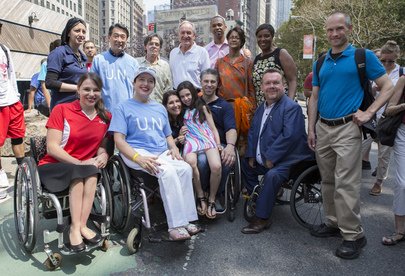
[[201, 88], [200, 74], [205, 69], [210, 68], [210, 58], [205, 48], [196, 45], [184, 54], [180, 46], [170, 52], [170, 70], [172, 71], [173, 86], [177, 86], [183, 81], [190, 81], [195, 87]]

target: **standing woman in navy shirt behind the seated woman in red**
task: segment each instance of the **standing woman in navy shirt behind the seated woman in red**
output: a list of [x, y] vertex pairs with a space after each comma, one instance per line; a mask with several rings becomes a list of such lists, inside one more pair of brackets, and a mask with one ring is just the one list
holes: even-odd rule
[[79, 49], [86, 40], [86, 22], [71, 18], [61, 36], [62, 45], [48, 56], [46, 87], [52, 90], [51, 110], [76, 99], [77, 82], [87, 72], [86, 55]]

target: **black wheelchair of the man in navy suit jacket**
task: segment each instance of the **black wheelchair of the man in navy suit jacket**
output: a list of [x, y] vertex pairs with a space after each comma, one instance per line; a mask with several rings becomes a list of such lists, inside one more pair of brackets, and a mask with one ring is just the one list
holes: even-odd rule
[[[263, 185], [262, 179], [252, 193], [245, 196], [243, 214], [248, 222], [256, 214], [256, 200]], [[288, 180], [277, 194], [276, 203], [289, 204], [294, 219], [305, 228], [312, 229], [323, 223], [321, 176], [315, 160], [301, 161], [292, 166]]]

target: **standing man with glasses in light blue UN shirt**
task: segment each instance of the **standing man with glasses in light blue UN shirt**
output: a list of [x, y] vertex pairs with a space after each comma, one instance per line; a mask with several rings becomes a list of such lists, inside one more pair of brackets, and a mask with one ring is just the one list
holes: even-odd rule
[[103, 80], [102, 98], [109, 111], [133, 95], [132, 83], [139, 65], [135, 58], [125, 53], [128, 36], [127, 27], [119, 23], [110, 26], [110, 49], [94, 57], [90, 70]]

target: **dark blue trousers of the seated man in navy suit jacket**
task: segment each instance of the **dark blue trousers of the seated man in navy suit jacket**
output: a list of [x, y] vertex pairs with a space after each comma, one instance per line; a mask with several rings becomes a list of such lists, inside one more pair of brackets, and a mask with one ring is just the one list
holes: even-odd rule
[[267, 169], [256, 164], [256, 167], [252, 168], [249, 166], [248, 158], [242, 159], [242, 181], [249, 193], [252, 193], [256, 185], [259, 185], [257, 177], [264, 175], [263, 187], [256, 201], [256, 216], [258, 218], [270, 218], [277, 192], [281, 184], [288, 180], [289, 173], [290, 166], [287, 165], [278, 165], [272, 169]]

